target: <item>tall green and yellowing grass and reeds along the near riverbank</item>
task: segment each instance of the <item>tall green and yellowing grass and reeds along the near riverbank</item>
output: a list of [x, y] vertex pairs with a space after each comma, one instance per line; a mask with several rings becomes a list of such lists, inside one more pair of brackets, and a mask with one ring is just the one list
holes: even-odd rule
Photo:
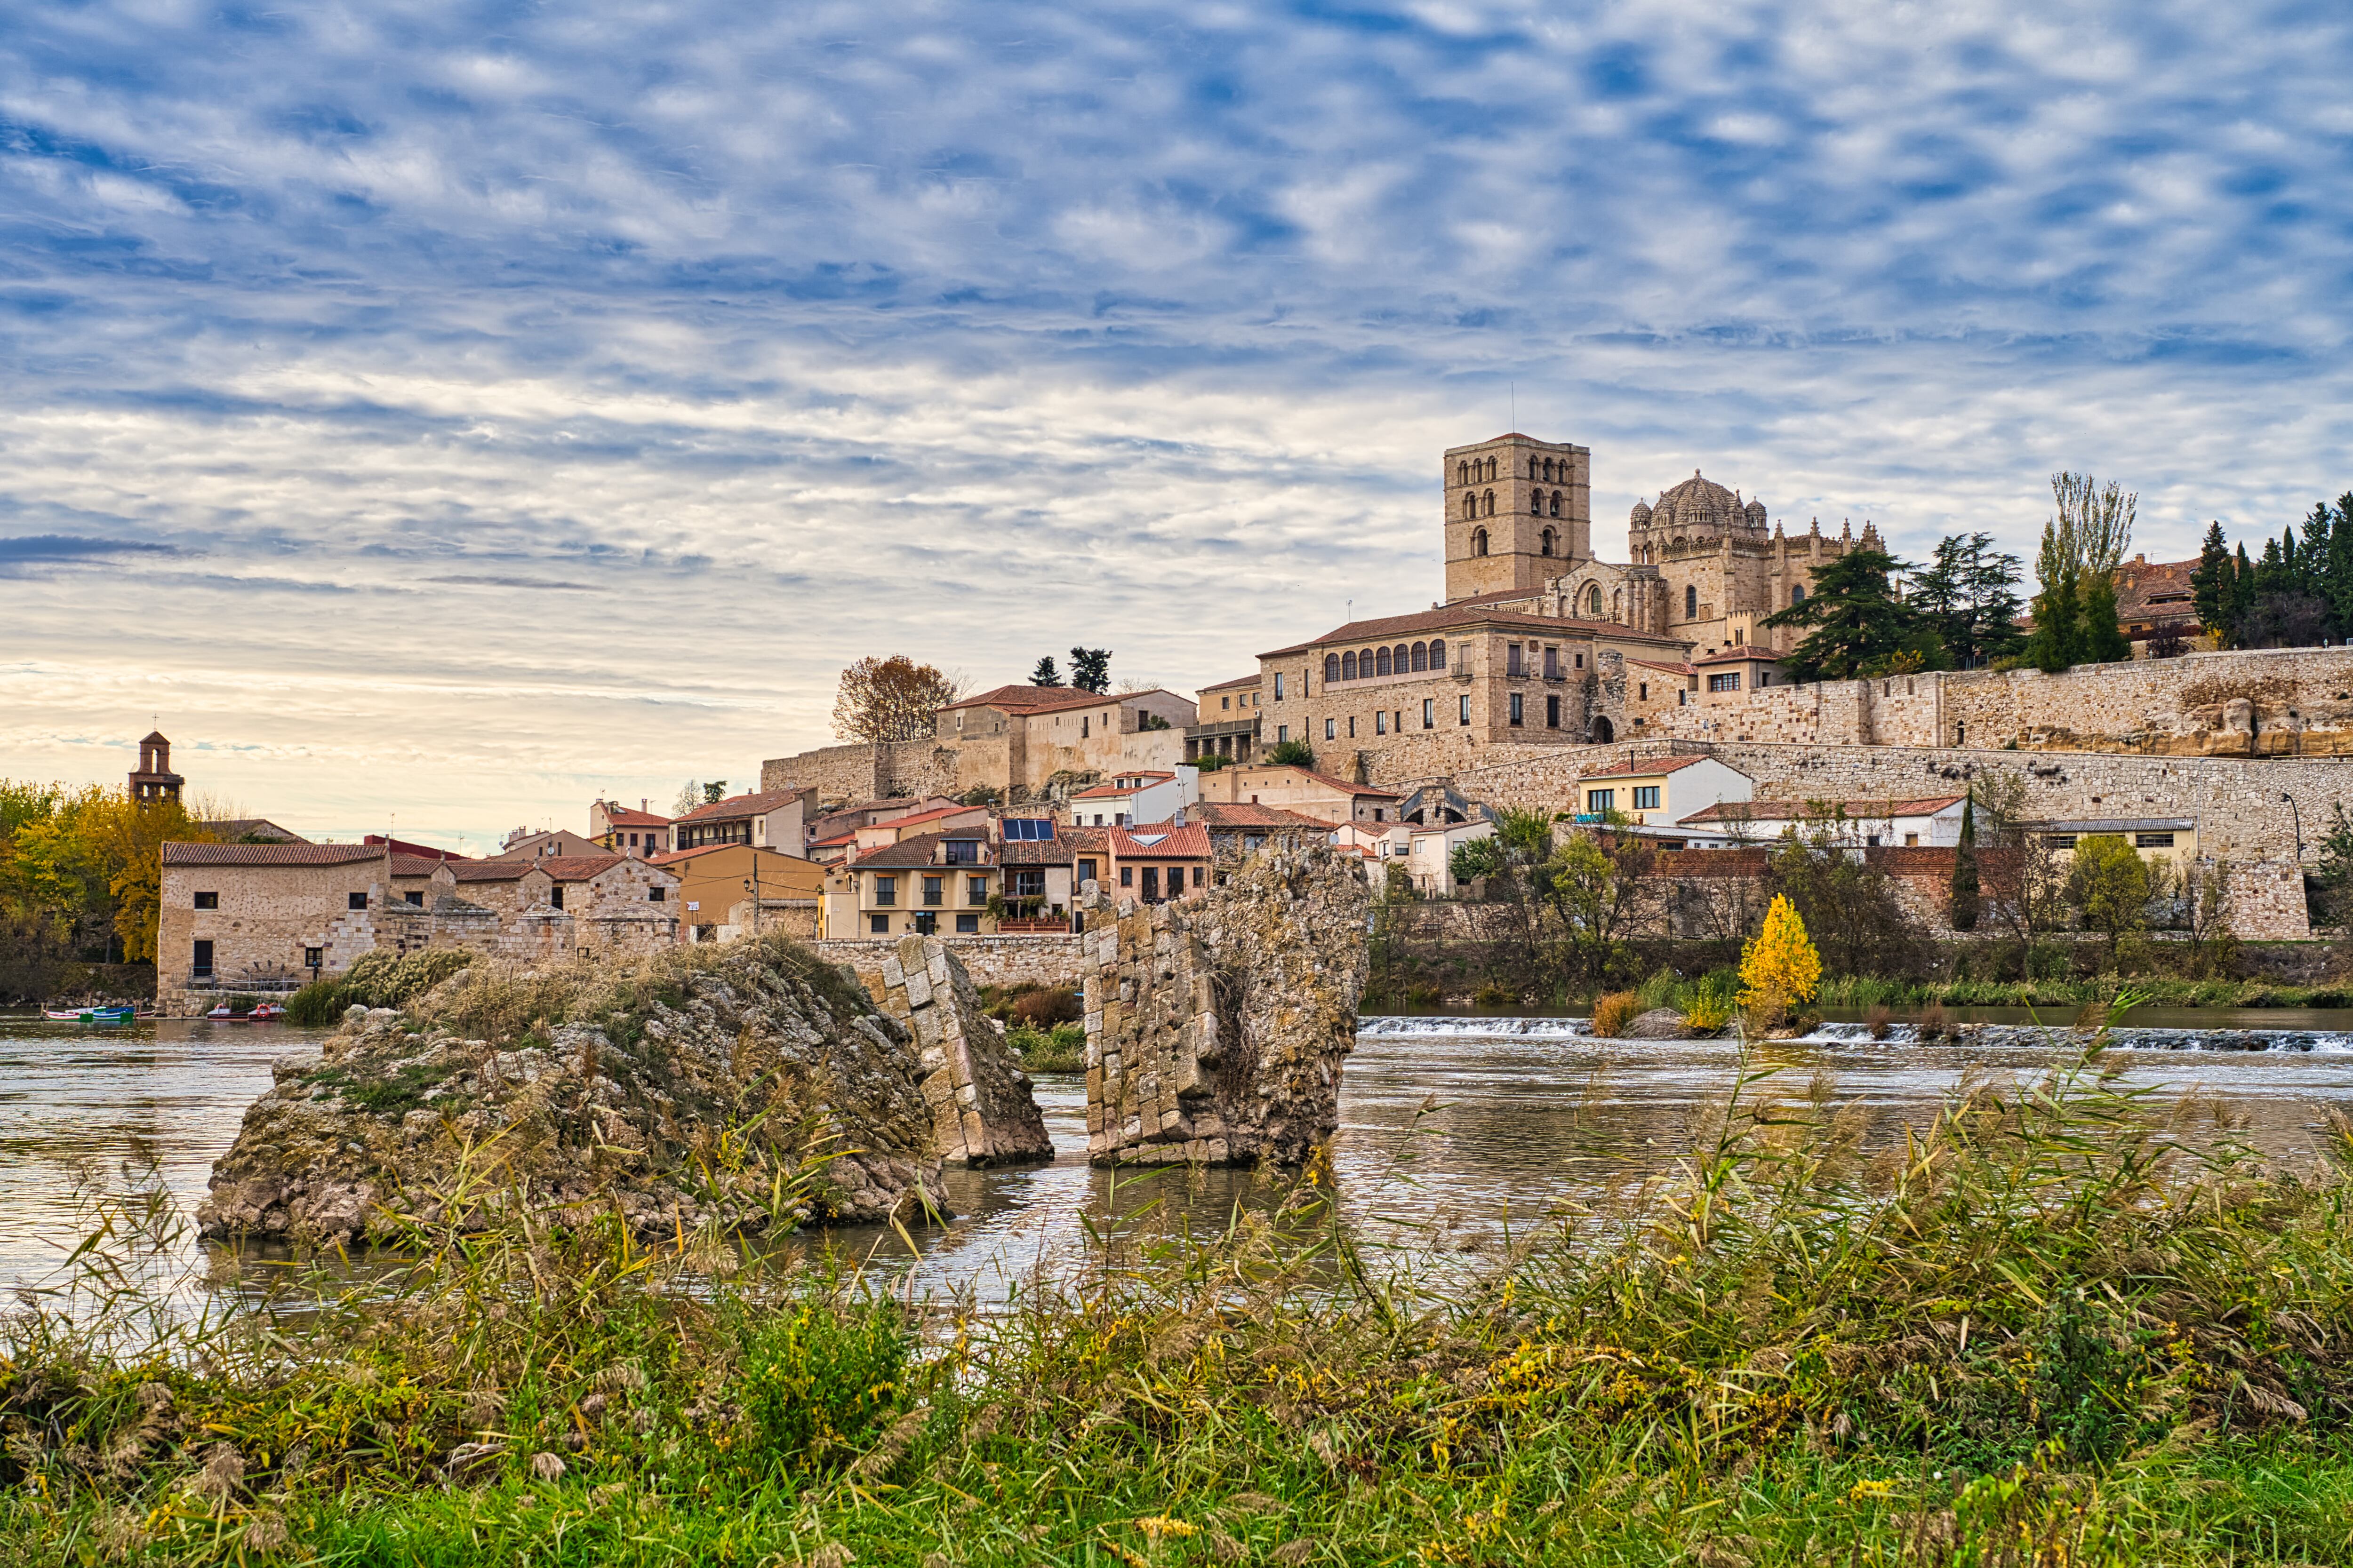
[[0, 1552], [2346, 1561], [2353, 1182], [2181, 1133], [2097, 1056], [1887, 1147], [1744, 1070], [1673, 1178], [1480, 1267], [1362, 1251], [1311, 1171], [1219, 1234], [1106, 1222], [993, 1314], [588, 1204], [174, 1326], [111, 1262], [151, 1211], [80, 1316], [5, 1331]]

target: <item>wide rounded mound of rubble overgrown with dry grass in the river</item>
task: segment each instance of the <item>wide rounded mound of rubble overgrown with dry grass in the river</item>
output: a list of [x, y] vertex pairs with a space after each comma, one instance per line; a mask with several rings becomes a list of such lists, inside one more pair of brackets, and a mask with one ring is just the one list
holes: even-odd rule
[[[969, 992], [953, 959], [946, 990]], [[645, 1237], [948, 1213], [913, 1032], [774, 936], [645, 976], [478, 964], [405, 1011], [353, 1009], [318, 1060], [273, 1077], [214, 1166], [209, 1237], [351, 1241], [388, 1213], [508, 1204], [619, 1206]], [[1026, 1081], [976, 1095], [986, 1147], [1028, 1135], [1026, 1098]], [[1002, 1135], [998, 1107], [1014, 1107]]]

